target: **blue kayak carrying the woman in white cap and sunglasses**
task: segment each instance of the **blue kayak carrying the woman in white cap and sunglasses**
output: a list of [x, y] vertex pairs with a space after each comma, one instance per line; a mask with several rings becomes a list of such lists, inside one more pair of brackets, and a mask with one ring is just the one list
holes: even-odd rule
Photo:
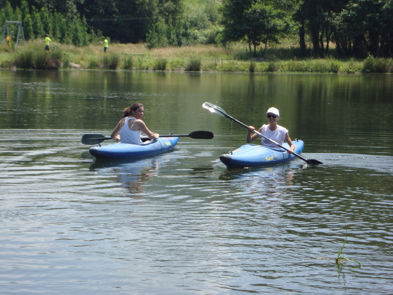
[[[294, 140], [292, 143], [295, 146], [295, 153], [301, 154], [304, 142], [302, 140]], [[284, 143], [282, 146], [289, 149], [287, 143]], [[288, 154], [281, 148], [269, 148], [251, 144], [241, 146], [220, 156], [221, 162], [229, 168], [271, 165], [287, 162], [295, 158], [295, 155]]]

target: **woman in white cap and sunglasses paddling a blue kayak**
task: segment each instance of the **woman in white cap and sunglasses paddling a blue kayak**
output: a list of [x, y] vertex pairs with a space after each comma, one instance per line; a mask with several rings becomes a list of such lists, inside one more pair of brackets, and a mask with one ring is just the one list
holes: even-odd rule
[[[284, 140], [286, 143], [289, 145], [289, 150], [287, 151], [288, 153], [293, 153], [295, 150], [294, 145], [292, 144], [292, 140], [289, 137], [288, 130], [280, 125], [277, 124], [277, 122], [280, 119], [280, 112], [276, 108], [270, 108], [266, 112], [267, 115], [267, 120], [269, 122], [268, 125], [263, 124], [262, 127], [258, 129], [258, 132], [261, 133], [262, 135], [266, 136], [267, 138], [270, 138], [277, 142], [278, 144], [282, 145]], [[259, 137], [258, 134], [254, 133], [255, 127], [249, 126], [249, 130], [247, 132], [247, 143], [253, 142], [255, 139]], [[261, 144], [266, 147], [271, 147], [271, 148], [279, 148], [277, 145], [272, 143], [271, 141], [265, 139], [262, 137]]]

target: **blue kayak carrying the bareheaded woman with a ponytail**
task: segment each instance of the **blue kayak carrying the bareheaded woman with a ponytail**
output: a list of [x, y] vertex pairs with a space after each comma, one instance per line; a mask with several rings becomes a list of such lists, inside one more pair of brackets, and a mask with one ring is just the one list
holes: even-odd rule
[[159, 137], [156, 140], [140, 145], [117, 143], [107, 146], [96, 146], [89, 148], [89, 152], [97, 159], [142, 157], [166, 152], [174, 148], [178, 140], [178, 137]]

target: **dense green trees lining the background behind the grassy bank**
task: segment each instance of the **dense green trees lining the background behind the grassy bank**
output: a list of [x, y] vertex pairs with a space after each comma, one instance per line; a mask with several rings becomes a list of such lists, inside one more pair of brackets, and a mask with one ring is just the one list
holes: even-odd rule
[[289, 38], [299, 57], [391, 58], [392, 15], [393, 0], [0, 0], [1, 24], [22, 22], [26, 40], [48, 33], [75, 46], [103, 37], [148, 48], [245, 42], [255, 57]]

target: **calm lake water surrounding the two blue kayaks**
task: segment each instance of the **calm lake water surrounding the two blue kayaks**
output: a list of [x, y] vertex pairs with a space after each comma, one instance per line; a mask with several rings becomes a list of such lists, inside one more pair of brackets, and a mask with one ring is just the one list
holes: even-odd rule
[[[0, 289], [8, 294], [393, 293], [393, 76], [0, 71]], [[166, 154], [94, 161], [140, 101]], [[219, 156], [280, 110], [305, 158]], [[111, 144], [106, 141], [105, 144]], [[337, 266], [338, 251], [349, 261]]]

